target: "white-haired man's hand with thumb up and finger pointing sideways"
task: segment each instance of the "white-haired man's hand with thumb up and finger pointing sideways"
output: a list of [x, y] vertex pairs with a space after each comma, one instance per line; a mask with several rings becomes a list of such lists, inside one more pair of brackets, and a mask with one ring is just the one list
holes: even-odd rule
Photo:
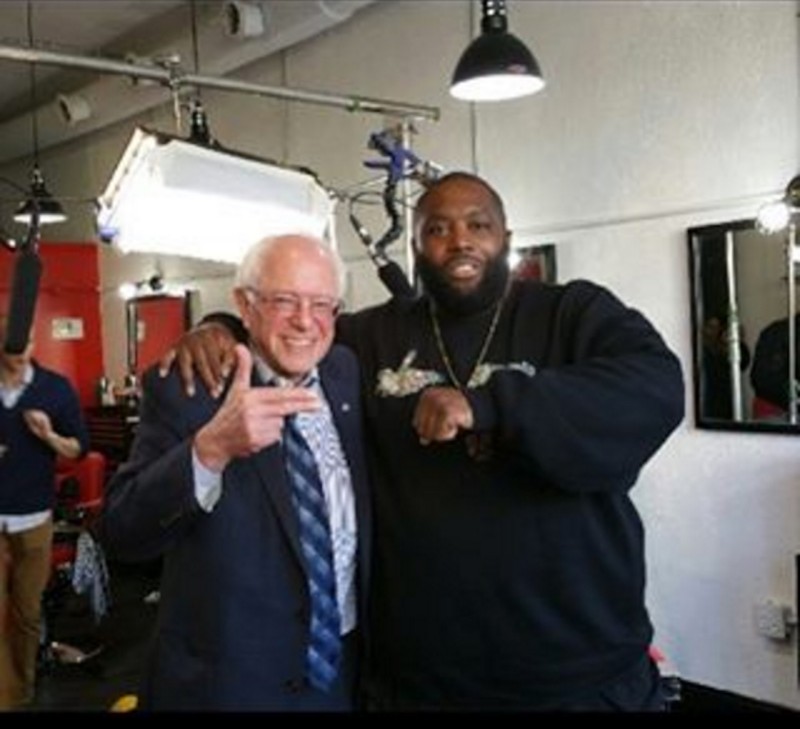
[[252, 455], [280, 440], [287, 415], [317, 410], [321, 405], [306, 387], [252, 387], [250, 350], [237, 344], [234, 353], [236, 372], [225, 400], [194, 438], [200, 462], [216, 473], [231, 459]]

